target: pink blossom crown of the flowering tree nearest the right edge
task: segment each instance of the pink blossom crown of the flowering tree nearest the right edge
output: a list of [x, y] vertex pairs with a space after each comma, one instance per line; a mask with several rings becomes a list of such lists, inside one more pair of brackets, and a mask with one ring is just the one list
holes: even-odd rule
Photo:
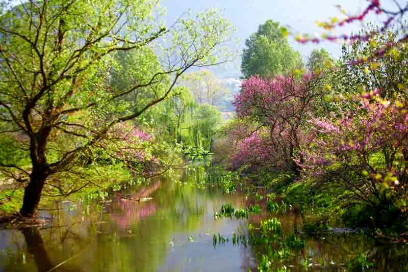
[[[296, 162], [312, 176], [324, 174], [330, 166], [345, 166], [353, 171], [370, 170], [371, 156], [384, 151], [408, 151], [408, 113], [384, 102], [359, 99], [359, 105], [340, 111], [340, 117], [314, 118], [312, 130], [318, 135], [302, 149]], [[382, 174], [393, 171], [390, 164]]]

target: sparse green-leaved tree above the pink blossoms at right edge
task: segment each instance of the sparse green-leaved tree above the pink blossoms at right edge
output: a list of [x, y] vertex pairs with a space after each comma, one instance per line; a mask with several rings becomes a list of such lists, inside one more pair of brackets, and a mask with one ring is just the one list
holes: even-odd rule
[[[401, 34], [386, 31], [377, 33], [378, 28], [363, 31], [362, 36], [368, 36], [368, 41], [357, 40], [350, 45], [343, 45], [343, 63], [339, 73], [342, 73], [342, 86], [349, 93], [360, 93], [362, 90], [378, 89], [379, 95], [385, 99], [395, 99], [398, 95], [406, 96], [408, 86], [408, 45], [401, 43], [398, 48], [390, 48], [384, 55], [376, 52], [387, 44], [397, 42]], [[348, 65], [359, 59], [365, 62]]]

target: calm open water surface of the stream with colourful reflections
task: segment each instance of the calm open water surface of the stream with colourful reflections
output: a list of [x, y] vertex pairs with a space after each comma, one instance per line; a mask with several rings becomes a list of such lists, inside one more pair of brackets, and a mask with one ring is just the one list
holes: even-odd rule
[[[122, 192], [151, 197], [145, 202], [113, 197], [98, 209], [73, 202], [46, 207], [59, 208], [41, 212], [54, 217], [50, 225], [0, 231], [0, 271], [256, 270], [264, 249], [233, 244], [231, 237], [234, 232], [247, 235], [248, 223], [257, 227], [270, 215], [214, 220], [222, 204], [245, 207], [254, 201], [240, 193], [198, 188], [202, 175], [197, 171], [203, 170], [185, 172], [182, 184], [160, 178]], [[278, 218], [284, 233], [301, 230], [301, 214]], [[230, 241], [214, 246], [214, 234]], [[305, 247], [282, 263], [291, 271], [344, 271], [356, 269], [361, 254], [378, 271], [400, 271], [408, 260], [402, 247], [378, 247], [362, 235], [333, 235], [305, 239]]]

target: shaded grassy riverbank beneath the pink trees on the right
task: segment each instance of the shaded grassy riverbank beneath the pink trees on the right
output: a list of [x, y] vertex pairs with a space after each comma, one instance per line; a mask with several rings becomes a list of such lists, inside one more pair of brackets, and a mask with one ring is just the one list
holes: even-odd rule
[[[350, 202], [339, 188], [316, 187], [310, 180], [294, 176], [262, 172], [241, 175], [238, 183], [245, 184], [243, 191], [248, 196], [269, 199], [277, 207], [301, 212], [308, 225], [305, 233], [328, 232], [332, 228], [364, 231], [380, 243], [407, 243], [406, 222], [393, 218], [390, 210], [361, 202]], [[275, 204], [276, 203], [276, 204]]]

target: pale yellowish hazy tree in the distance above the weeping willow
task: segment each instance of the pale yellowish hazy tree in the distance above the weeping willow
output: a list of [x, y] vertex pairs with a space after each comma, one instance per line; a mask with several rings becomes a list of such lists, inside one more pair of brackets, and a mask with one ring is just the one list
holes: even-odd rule
[[229, 90], [210, 70], [200, 70], [185, 74], [183, 77], [194, 100], [199, 104], [219, 105]]

